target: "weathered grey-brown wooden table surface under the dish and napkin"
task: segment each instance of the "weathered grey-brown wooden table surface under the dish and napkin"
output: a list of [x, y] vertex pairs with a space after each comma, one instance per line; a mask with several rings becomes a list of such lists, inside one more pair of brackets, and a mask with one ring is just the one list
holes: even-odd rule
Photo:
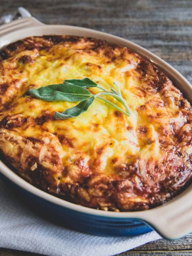
[[[19, 6], [46, 24], [93, 28], [129, 39], [169, 62], [192, 83], [192, 0], [1, 0], [0, 16], [16, 12]], [[0, 255], [34, 254], [2, 248]], [[189, 256], [192, 234], [119, 255]]]

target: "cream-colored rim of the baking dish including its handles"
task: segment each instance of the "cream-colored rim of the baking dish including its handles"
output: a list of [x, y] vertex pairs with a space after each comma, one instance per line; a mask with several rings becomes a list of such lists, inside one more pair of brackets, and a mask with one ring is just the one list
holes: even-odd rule
[[[149, 60], [159, 67], [180, 89], [184, 96], [192, 103], [192, 85], [172, 66], [155, 54], [123, 38], [92, 29], [80, 28], [66, 25], [45, 25], [33, 17], [22, 18], [11, 23], [0, 26], [0, 48], [28, 36], [42, 35], [74, 35], [95, 37], [108, 42], [126, 46], [133, 52], [137, 52], [144, 59]], [[113, 218], [138, 218], [144, 220], [157, 230], [159, 234], [169, 239], [177, 239], [192, 231], [192, 184], [179, 196], [156, 208], [139, 212], [105, 212], [76, 205], [55, 196], [52, 196], [20, 178], [2, 161], [0, 161], [0, 172], [16, 185], [28, 192], [44, 198], [54, 204], [92, 215]]]

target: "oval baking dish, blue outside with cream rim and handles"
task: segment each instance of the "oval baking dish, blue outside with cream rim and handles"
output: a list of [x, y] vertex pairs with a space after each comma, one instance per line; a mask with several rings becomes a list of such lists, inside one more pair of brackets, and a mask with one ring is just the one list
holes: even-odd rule
[[[53, 34], [95, 37], [126, 46], [160, 68], [192, 103], [192, 86], [179, 72], [153, 53], [117, 36], [74, 26], [45, 25], [33, 17], [28, 17], [0, 27], [0, 47], [28, 36]], [[168, 203], [154, 209], [139, 212], [105, 212], [72, 204], [47, 194], [20, 178], [2, 161], [0, 173], [11, 187], [27, 198], [33, 208], [48, 218], [57, 219], [62, 225], [82, 232], [102, 236], [134, 236], [154, 228], [162, 236], [176, 239], [192, 231], [192, 185]]]

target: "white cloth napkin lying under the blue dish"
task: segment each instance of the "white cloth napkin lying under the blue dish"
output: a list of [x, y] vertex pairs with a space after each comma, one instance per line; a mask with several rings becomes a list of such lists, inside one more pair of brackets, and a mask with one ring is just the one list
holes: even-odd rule
[[31, 212], [0, 180], [0, 247], [49, 256], [111, 256], [159, 238], [155, 231], [128, 238], [63, 228]]

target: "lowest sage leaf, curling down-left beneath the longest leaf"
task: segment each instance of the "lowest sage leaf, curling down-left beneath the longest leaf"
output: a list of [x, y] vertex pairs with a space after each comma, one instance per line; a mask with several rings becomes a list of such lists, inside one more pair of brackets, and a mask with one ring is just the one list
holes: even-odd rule
[[82, 100], [79, 104], [75, 107], [68, 108], [62, 113], [55, 112], [54, 118], [55, 119], [67, 119], [81, 115], [82, 113], [86, 112], [90, 105], [93, 103], [95, 97], [91, 97], [86, 100]]

